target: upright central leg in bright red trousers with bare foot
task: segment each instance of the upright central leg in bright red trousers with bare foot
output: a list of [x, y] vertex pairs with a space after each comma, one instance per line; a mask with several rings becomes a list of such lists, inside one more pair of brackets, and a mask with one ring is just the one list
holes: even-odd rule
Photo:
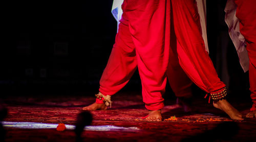
[[[138, 70], [145, 107], [152, 110], [146, 120], [161, 120], [157, 112], [163, 107], [169, 49], [168, 1], [127, 1], [130, 32], [136, 47]], [[166, 4], [167, 3], [167, 4]]]

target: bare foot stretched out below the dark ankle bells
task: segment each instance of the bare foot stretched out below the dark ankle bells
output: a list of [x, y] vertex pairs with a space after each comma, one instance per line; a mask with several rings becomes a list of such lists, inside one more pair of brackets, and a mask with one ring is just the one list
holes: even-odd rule
[[227, 113], [232, 120], [244, 120], [242, 114], [234, 108], [226, 99], [214, 102], [214, 107], [219, 108]]

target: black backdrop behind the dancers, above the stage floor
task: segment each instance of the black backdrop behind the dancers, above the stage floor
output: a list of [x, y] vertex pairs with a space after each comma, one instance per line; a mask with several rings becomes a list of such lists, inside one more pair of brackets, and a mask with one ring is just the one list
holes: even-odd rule
[[[108, 0], [4, 4], [1, 94], [97, 93], [115, 41], [117, 23], [111, 14], [112, 3]], [[229, 38], [224, 22], [225, 4], [221, 0], [207, 1], [210, 58], [232, 96], [248, 97], [248, 73], [243, 72]], [[141, 90], [138, 72], [122, 91], [126, 90]]]

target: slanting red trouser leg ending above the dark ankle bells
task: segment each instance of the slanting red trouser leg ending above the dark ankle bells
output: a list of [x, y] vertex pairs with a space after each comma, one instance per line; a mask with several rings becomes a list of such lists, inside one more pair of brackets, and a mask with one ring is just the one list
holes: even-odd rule
[[172, 0], [179, 63], [189, 78], [207, 93], [225, 87], [212, 64], [201, 35], [195, 0]]

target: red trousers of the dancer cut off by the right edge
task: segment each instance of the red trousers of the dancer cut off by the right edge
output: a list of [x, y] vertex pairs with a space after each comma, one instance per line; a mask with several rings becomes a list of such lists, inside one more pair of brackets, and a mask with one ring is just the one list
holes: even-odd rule
[[249, 81], [252, 99], [251, 111], [256, 110], [256, 1], [235, 0], [236, 16], [240, 21], [240, 32], [245, 37], [249, 56]]

